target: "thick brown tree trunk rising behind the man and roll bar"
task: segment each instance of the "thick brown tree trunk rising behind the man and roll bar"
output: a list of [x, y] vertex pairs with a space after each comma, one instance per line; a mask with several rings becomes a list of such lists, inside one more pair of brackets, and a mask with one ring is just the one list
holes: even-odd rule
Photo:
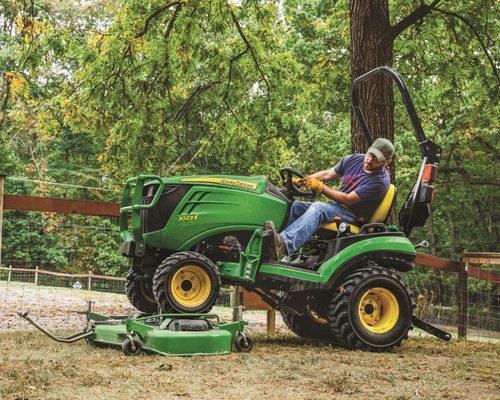
[[[351, 0], [351, 82], [382, 65], [392, 65], [394, 40], [390, 34], [388, 0]], [[377, 76], [360, 87], [361, 108], [373, 139], [394, 141], [394, 96], [392, 81]], [[364, 153], [369, 147], [351, 108], [351, 148]]]

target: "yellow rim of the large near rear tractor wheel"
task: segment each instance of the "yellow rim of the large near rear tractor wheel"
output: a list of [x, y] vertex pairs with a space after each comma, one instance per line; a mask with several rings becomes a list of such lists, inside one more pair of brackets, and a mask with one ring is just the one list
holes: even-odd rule
[[399, 303], [385, 288], [368, 290], [359, 302], [358, 315], [366, 330], [373, 333], [389, 332], [399, 318]]

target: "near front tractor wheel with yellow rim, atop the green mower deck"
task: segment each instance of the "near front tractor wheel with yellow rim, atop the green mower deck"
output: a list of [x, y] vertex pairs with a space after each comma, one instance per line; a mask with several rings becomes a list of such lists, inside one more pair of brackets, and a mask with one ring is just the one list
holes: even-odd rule
[[[191, 279], [183, 280], [184, 271], [188, 271], [186, 275], [191, 274]], [[176, 280], [182, 282], [174, 288], [175, 292], [172, 292], [172, 282]], [[184, 284], [186, 287], [182, 286]], [[220, 286], [221, 279], [217, 266], [203, 254], [193, 251], [183, 251], [167, 257], [156, 269], [153, 277], [153, 293], [162, 312], [172, 312], [172, 310], [180, 313], [208, 312], [217, 300]], [[184, 301], [180, 298], [181, 292], [190, 295], [191, 290], [193, 295], [196, 295], [195, 291], [200, 295], [199, 304], [189, 305], [187, 299]]]

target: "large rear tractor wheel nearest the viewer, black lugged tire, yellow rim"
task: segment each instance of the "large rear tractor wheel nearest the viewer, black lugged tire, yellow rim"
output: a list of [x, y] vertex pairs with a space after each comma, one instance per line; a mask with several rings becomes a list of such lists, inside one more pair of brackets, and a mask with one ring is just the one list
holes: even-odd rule
[[343, 346], [388, 351], [408, 337], [414, 307], [413, 294], [397, 272], [369, 266], [352, 272], [332, 292], [327, 318]]

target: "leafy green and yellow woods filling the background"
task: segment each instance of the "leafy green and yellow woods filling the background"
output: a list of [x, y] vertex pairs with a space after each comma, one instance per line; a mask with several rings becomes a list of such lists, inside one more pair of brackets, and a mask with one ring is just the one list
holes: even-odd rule
[[[332, 166], [366, 147], [352, 78], [389, 64], [444, 149], [432, 223], [414, 241], [445, 257], [495, 250], [498, 12], [488, 0], [2, 0], [6, 193], [116, 201], [138, 173], [278, 182], [284, 165]], [[374, 136], [396, 143], [399, 208], [418, 147], [391, 88], [363, 90]], [[113, 221], [9, 212], [4, 224], [5, 259], [126, 270]]]

